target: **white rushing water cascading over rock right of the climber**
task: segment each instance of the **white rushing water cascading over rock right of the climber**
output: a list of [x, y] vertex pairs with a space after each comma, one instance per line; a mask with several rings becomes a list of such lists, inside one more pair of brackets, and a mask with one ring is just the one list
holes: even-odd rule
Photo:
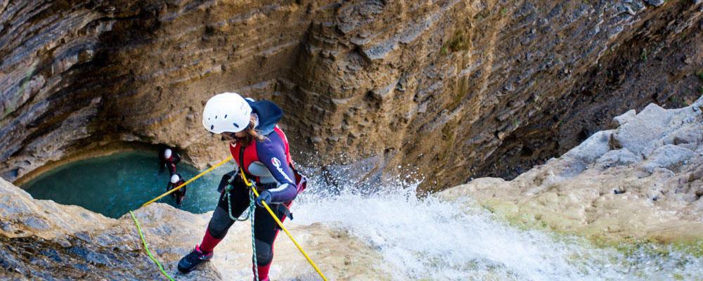
[[[418, 199], [418, 183], [359, 192], [311, 181], [296, 223], [325, 223], [378, 249], [393, 280], [701, 280], [702, 259], [638, 247], [624, 254], [578, 237], [520, 230], [470, 198]], [[328, 192], [326, 190], [334, 190]], [[319, 210], [325, 210], [323, 212]]]

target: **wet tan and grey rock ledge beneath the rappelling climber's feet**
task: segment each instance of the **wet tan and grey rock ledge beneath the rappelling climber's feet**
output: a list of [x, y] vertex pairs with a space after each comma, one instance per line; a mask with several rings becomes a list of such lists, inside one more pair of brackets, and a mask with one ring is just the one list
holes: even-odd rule
[[[77, 206], [32, 197], [0, 179], [0, 279], [2, 280], [162, 280], [143, 248], [130, 214], [107, 218]], [[167, 204], [134, 211], [151, 254], [175, 280], [250, 280], [249, 222], [236, 223], [213, 259], [187, 275], [178, 261], [202, 240], [212, 212], [191, 214]], [[313, 224], [286, 228], [330, 280], [387, 280], [370, 270], [380, 260], [346, 233]], [[314, 268], [282, 234], [276, 242], [272, 280], [320, 280]], [[340, 248], [339, 245], [344, 245]]]

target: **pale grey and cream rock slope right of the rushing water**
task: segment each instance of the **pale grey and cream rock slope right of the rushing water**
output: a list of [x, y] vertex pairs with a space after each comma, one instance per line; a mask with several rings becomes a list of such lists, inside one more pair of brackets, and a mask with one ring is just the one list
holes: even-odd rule
[[702, 239], [703, 98], [615, 119], [625, 123], [512, 181], [477, 178], [443, 194], [475, 198], [514, 223], [594, 240]]

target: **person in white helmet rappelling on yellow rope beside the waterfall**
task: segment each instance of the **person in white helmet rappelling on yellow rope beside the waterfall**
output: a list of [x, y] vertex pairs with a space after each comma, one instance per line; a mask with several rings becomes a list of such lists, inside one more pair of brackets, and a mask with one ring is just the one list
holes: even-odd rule
[[[283, 110], [269, 100], [254, 101], [238, 93], [220, 93], [205, 104], [202, 125], [211, 133], [219, 133], [239, 164], [247, 180], [254, 181], [259, 196], [254, 199], [254, 247], [256, 263], [252, 270], [258, 281], [269, 280], [273, 259], [273, 241], [278, 226], [271, 214], [264, 209], [264, 202], [280, 221], [290, 216], [288, 207], [298, 192], [304, 190], [305, 179], [293, 168], [288, 151], [288, 139], [276, 126], [283, 117]], [[236, 174], [236, 175], [235, 175]], [[183, 256], [178, 268], [182, 273], [195, 269], [202, 261], [212, 259], [215, 246], [227, 230], [250, 206], [250, 188], [240, 173], [230, 173], [228, 188], [221, 191], [217, 207], [205, 230], [202, 242], [190, 254]]]

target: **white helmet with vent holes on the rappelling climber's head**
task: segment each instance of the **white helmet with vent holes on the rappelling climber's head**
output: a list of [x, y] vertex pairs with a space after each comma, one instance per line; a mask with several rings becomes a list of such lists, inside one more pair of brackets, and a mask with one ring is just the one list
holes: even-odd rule
[[252, 107], [238, 93], [219, 93], [205, 104], [202, 126], [212, 133], [244, 131], [251, 120]]

